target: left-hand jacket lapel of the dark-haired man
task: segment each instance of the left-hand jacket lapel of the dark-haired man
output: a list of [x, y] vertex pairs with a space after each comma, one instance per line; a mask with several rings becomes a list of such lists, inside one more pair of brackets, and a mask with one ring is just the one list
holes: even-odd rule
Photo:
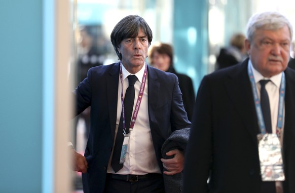
[[106, 77], [106, 94], [109, 112], [110, 129], [114, 140], [117, 120], [117, 104], [118, 104], [118, 85], [119, 85], [119, 66], [120, 62], [116, 63]]

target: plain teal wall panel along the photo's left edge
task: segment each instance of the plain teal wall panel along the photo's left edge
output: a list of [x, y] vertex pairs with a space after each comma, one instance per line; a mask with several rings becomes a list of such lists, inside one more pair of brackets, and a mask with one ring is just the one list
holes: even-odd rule
[[42, 192], [42, 1], [1, 1], [0, 192]]

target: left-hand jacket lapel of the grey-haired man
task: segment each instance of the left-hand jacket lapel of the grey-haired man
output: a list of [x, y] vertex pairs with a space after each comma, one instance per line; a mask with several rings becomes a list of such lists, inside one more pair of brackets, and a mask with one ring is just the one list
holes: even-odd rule
[[251, 135], [253, 141], [257, 143], [256, 135], [259, 131], [259, 126], [254, 107], [251, 84], [248, 78], [248, 60], [245, 60], [239, 65], [240, 68], [238, 68], [235, 73], [229, 75], [230, 79], [227, 83], [225, 83], [225, 85], [229, 97], [233, 101], [246, 129]]

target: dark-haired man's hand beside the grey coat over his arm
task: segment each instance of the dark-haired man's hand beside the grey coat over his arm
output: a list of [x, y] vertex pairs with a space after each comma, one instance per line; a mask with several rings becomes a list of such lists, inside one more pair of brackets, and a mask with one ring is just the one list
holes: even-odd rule
[[178, 149], [173, 149], [171, 151], [168, 151], [166, 153], [166, 156], [173, 156], [172, 159], [161, 159], [163, 162], [163, 166], [166, 170], [164, 171], [164, 174], [166, 175], [174, 175], [177, 173], [180, 173], [183, 170], [183, 164], [185, 162], [185, 156], [183, 155], [183, 152]]

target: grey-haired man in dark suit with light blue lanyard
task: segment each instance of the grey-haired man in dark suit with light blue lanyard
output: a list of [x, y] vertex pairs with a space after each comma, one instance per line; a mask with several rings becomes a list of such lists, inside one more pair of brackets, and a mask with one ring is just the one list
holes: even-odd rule
[[[183, 192], [295, 192], [295, 71], [287, 67], [291, 40], [292, 26], [281, 14], [253, 15], [245, 40], [249, 59], [203, 78], [186, 150]], [[260, 80], [270, 80], [265, 86], [270, 101], [268, 134], [282, 133], [278, 140], [284, 181], [262, 180], [257, 135], [265, 133], [266, 116], [257, 107]], [[278, 120], [282, 125], [277, 126]]]

